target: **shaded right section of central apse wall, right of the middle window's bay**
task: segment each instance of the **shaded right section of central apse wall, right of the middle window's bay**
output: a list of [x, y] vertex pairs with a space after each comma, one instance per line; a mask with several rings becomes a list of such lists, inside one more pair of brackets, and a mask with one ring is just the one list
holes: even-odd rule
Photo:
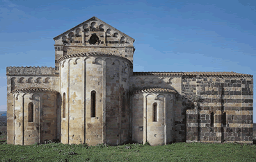
[[129, 78], [131, 62], [106, 59], [106, 143], [129, 141]]

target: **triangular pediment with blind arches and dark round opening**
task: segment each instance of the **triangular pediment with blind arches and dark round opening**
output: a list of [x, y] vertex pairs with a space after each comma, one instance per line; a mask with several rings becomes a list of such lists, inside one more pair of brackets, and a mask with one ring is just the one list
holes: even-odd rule
[[97, 17], [92, 17], [54, 37], [56, 44], [83, 46], [133, 46], [134, 39]]

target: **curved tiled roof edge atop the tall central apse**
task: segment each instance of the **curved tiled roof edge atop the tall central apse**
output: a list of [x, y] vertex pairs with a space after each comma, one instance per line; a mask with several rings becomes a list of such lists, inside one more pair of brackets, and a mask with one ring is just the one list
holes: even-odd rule
[[[113, 57], [121, 57], [125, 60], [128, 60], [126, 57], [123, 57], [122, 55], [118, 55], [118, 54], [113, 54], [113, 53], [75, 53], [75, 54], [71, 54], [71, 55], [65, 55], [63, 57], [61, 57], [60, 59], [58, 59], [58, 63], [66, 60], [68, 58], [72, 58], [72, 57], [85, 57], [85, 56], [113, 56]], [[128, 60], [129, 62], [131, 62], [130, 60]]]

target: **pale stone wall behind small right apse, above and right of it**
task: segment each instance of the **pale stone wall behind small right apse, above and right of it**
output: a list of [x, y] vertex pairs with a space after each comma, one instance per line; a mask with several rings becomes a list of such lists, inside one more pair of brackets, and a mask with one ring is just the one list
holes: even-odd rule
[[186, 141], [186, 107], [182, 97], [182, 78], [184, 73], [165, 72], [134, 72], [131, 89], [142, 89], [145, 87], [161, 87], [177, 91], [173, 111], [175, 112], [175, 138], [174, 141]]

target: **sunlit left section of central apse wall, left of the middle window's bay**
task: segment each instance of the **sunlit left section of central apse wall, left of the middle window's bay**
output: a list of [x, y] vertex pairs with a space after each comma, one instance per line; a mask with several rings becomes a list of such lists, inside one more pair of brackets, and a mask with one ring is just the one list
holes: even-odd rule
[[61, 142], [84, 143], [85, 64], [84, 59], [61, 62]]

